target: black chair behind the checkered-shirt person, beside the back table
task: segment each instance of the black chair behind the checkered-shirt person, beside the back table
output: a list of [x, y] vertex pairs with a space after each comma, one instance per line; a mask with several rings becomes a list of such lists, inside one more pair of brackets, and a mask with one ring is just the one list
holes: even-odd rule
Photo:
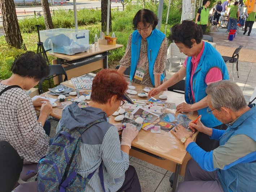
[[67, 75], [67, 73], [66, 73], [66, 71], [65, 71], [65, 69], [62, 65], [49, 65], [49, 67], [50, 67], [49, 77], [43, 78], [39, 82], [39, 89], [38, 89], [39, 94], [44, 93], [43, 90], [42, 90], [42, 83], [43, 83], [44, 80], [49, 81], [50, 88], [52, 88], [51, 83], [50, 83], [50, 79], [52, 79], [53, 77], [56, 77], [58, 75], [65, 75], [64, 81], [68, 80], [68, 75]]

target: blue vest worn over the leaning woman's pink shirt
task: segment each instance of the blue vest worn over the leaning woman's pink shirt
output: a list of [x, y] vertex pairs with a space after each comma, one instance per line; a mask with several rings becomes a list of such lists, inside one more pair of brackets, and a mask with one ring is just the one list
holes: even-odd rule
[[[191, 59], [188, 57], [186, 66], [186, 87], [185, 87], [185, 100], [188, 104], [193, 104], [193, 97], [191, 93], [190, 77], [191, 77]], [[199, 64], [196, 67], [195, 73], [192, 77], [193, 91], [195, 95], [195, 102], [199, 102], [207, 96], [205, 89], [205, 77], [209, 70], [213, 67], [218, 67], [222, 71], [222, 80], [229, 80], [229, 73], [221, 54], [212, 47], [211, 44], [204, 43], [204, 51], [200, 58]], [[191, 99], [191, 100], [190, 100]], [[207, 107], [208, 108], [208, 107]], [[201, 122], [207, 127], [216, 127], [222, 123], [207, 112], [207, 108], [199, 109], [198, 114], [202, 115]]]

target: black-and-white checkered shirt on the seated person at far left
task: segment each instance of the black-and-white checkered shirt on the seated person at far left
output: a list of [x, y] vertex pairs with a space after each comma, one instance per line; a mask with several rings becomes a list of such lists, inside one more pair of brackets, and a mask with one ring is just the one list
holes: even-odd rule
[[[0, 83], [0, 92], [8, 85]], [[38, 162], [49, 149], [49, 137], [37, 121], [31, 98], [21, 88], [0, 96], [0, 140], [8, 141], [24, 157], [24, 164]]]

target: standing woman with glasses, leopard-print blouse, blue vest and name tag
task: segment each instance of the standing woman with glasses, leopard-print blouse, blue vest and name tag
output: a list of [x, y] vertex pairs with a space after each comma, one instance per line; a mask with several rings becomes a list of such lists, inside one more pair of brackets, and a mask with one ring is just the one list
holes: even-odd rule
[[147, 87], [158, 87], [164, 81], [168, 40], [156, 29], [159, 19], [148, 9], [139, 10], [133, 25], [125, 55], [120, 61], [118, 72], [123, 73], [131, 66], [130, 80]]

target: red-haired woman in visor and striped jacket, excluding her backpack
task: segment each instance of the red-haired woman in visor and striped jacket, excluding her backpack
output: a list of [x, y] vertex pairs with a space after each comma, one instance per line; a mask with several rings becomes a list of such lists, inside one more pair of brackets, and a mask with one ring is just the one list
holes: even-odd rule
[[[111, 125], [107, 117], [112, 115], [124, 100], [130, 99], [125, 94], [127, 82], [123, 75], [116, 70], [101, 70], [93, 80], [91, 101], [81, 104], [74, 102], [63, 110], [62, 118], [57, 126], [70, 130], [104, 119], [82, 134], [80, 154], [77, 160], [77, 174], [83, 178], [94, 173], [84, 192], [141, 192], [137, 173], [133, 166], [129, 166], [129, 150], [131, 141], [138, 134], [136, 127], [127, 123], [122, 131], [122, 140], [118, 135], [118, 125]], [[99, 166], [103, 164], [103, 174]]]

